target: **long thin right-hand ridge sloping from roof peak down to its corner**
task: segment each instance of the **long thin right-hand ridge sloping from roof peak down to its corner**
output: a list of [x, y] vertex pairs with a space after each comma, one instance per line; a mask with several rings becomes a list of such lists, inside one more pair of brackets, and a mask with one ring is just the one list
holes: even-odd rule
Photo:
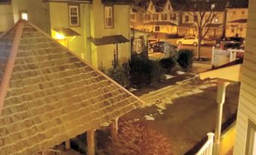
[[[24, 21], [23, 22], [29, 24], [29, 26], [32, 26], [33, 28], [35, 28], [36, 30], [38, 30], [39, 32], [41, 32], [43, 35], [45, 35], [47, 38], [51, 39], [52, 41], [56, 42], [57, 44], [60, 44], [58, 41], [56, 41], [54, 38], [52, 38], [50, 35], [48, 35], [46, 32], [44, 32], [42, 29], [40, 29], [38, 26], [35, 26], [34, 24], [30, 23], [29, 21]], [[102, 75], [104, 78], [106, 78], [107, 80], [111, 81], [113, 84], [116, 84], [117, 87], [119, 87], [121, 90], [124, 90], [126, 93], [128, 93], [130, 96], [134, 97], [135, 99], [137, 99], [139, 102], [143, 103], [144, 102], [138, 97], [135, 96], [133, 93], [131, 93], [130, 91], [126, 90], [124, 87], [122, 87], [120, 84], [118, 84], [116, 81], [114, 81], [112, 78], [109, 78], [106, 74], [104, 74], [102, 71], [100, 71], [98, 68], [95, 68], [94, 66], [88, 64], [87, 62], [85, 62], [84, 59], [81, 59], [80, 56], [78, 56], [76, 53], [72, 52], [72, 50], [69, 50], [67, 47], [64, 47], [62, 45], [63, 48], [65, 48], [69, 53], [72, 53], [72, 55], [76, 56], [77, 59], [81, 60], [82, 62], [84, 62], [86, 65], [88, 65], [88, 67], [94, 69], [94, 71], [97, 71], [97, 73], [99, 73], [100, 75]], [[1, 104], [1, 100], [0, 100], [0, 104]], [[140, 105], [141, 106], [141, 105]], [[1, 107], [0, 107], [1, 108]], [[1, 113], [0, 113], [1, 114]]]

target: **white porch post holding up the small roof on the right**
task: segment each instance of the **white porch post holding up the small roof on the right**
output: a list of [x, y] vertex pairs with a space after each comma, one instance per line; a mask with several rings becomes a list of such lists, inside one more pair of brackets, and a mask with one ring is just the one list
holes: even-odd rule
[[213, 154], [219, 154], [219, 148], [221, 143], [221, 123], [222, 123], [222, 111], [226, 96], [226, 87], [229, 83], [225, 81], [217, 81], [217, 120], [215, 126], [214, 137], [214, 150]]

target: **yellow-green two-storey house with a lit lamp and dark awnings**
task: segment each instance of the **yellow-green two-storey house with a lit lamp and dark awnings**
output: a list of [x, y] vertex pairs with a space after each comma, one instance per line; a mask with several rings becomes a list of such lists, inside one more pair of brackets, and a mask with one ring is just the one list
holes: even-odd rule
[[51, 34], [96, 68], [130, 59], [130, 5], [116, 0], [49, 0]]

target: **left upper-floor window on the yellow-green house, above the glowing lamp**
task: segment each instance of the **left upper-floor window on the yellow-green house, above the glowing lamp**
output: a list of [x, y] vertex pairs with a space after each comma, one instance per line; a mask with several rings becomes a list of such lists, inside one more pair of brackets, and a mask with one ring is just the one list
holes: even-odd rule
[[79, 25], [79, 5], [69, 5], [69, 26]]

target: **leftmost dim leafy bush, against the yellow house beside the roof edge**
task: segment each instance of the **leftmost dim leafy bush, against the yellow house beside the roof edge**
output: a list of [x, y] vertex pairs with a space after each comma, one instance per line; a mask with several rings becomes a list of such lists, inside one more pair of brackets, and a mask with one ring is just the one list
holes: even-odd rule
[[114, 81], [122, 85], [122, 87], [130, 86], [130, 75], [129, 75], [129, 65], [127, 63], [123, 65], [113, 65], [112, 68], [109, 68], [107, 75], [112, 78]]

